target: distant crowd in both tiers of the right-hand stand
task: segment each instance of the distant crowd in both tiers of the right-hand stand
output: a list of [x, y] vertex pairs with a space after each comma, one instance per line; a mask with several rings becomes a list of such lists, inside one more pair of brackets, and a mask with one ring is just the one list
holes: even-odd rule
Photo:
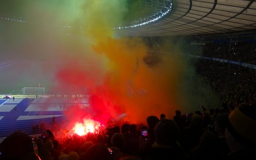
[[[222, 45], [224, 44], [206, 44], [202, 52], [203, 56], [209, 57], [211, 55], [214, 58], [255, 65], [256, 58], [253, 58], [256, 56], [255, 45], [253, 46], [251, 43], [236, 43], [236, 47], [232, 51], [228, 51], [227, 45], [219, 47]], [[237, 52], [236, 55], [242, 55], [238, 57], [234, 54], [229, 54], [234, 51], [241, 51]], [[241, 61], [241, 58], [243, 58], [243, 61]], [[219, 99], [228, 103], [228, 105], [251, 104], [252, 101], [256, 100], [256, 70], [208, 59], [198, 59], [195, 63], [195, 68], [196, 73], [201, 76], [202, 82], [205, 82], [219, 96]]]

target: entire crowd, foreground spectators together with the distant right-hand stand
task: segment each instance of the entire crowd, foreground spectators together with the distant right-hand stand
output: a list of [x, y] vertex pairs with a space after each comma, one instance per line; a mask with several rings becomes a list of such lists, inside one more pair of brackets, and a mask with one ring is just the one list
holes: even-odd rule
[[[236, 45], [247, 48], [243, 43]], [[253, 47], [248, 47], [252, 54]], [[255, 64], [255, 59], [240, 56], [243, 49], [232, 46], [232, 50], [226, 52], [228, 47], [223, 48], [225, 50], [215, 44], [206, 45], [204, 54]], [[228, 55], [231, 51], [236, 51], [234, 59]], [[195, 66], [202, 81], [209, 82], [209, 87], [220, 96], [221, 106], [206, 109], [202, 105], [195, 113], [176, 110], [170, 119], [166, 113], [149, 115], [142, 120], [145, 125], [119, 121], [85, 136], [55, 138], [46, 130], [40, 137], [29, 137], [16, 131], [0, 143], [0, 160], [254, 159], [256, 72], [206, 59], [199, 59]], [[147, 130], [147, 134], [142, 136], [142, 130]]]

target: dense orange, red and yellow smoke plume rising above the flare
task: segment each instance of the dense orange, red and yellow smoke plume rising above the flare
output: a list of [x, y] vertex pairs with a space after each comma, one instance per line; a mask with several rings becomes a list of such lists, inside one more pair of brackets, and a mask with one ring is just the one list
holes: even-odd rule
[[[122, 16], [118, 14], [113, 19], [111, 10], [117, 14], [116, 9], [123, 8], [122, 4], [111, 1], [103, 10], [94, 5], [89, 3], [90, 8], [84, 10], [86, 23], [76, 40], [79, 54], [66, 56], [67, 63], [59, 66], [56, 73], [58, 87], [62, 90], [90, 92], [89, 103], [94, 114], [74, 109], [73, 112], [82, 115], [78, 117], [89, 115], [101, 123], [122, 113], [126, 113], [126, 121], [131, 123], [145, 123], [146, 117], [159, 117], [161, 113], [172, 118], [175, 109], [180, 109], [177, 97], [184, 67], [179, 56], [152, 55], [140, 38], [114, 37], [111, 26], [118, 20], [121, 22]], [[110, 15], [102, 17], [105, 11]], [[170, 48], [171, 44], [168, 45]]]

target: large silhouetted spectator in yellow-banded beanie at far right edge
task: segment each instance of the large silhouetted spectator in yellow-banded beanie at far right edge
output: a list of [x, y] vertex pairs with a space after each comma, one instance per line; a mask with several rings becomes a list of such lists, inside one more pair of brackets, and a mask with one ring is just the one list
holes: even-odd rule
[[256, 152], [256, 102], [234, 109], [225, 130], [231, 150], [228, 160], [253, 160]]

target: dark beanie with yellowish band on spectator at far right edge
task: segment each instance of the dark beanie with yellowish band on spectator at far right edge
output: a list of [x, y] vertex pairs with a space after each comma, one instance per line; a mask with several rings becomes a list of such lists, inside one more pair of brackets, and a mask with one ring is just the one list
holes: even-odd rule
[[228, 116], [227, 129], [241, 144], [256, 144], [256, 105], [234, 109]]

